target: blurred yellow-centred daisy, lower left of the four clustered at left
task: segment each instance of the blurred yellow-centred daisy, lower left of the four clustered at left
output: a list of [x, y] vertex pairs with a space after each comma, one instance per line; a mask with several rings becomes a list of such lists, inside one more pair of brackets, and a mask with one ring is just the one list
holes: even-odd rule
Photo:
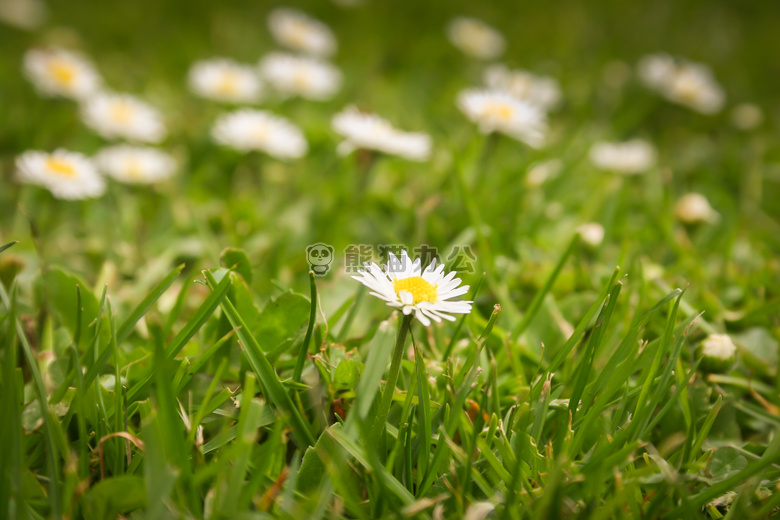
[[16, 179], [48, 189], [58, 199], [99, 197], [106, 189], [90, 159], [68, 150], [31, 150], [16, 158]]

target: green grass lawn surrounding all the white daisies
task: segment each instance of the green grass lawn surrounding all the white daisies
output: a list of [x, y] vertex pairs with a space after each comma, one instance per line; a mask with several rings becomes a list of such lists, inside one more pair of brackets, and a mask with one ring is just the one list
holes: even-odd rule
[[[345, 81], [327, 102], [261, 103], [309, 141], [280, 162], [214, 144], [221, 108], [185, 82], [196, 59], [274, 49], [272, 5], [51, 4], [37, 31], [0, 27], [0, 518], [780, 510], [776, 5], [296, 3], [333, 28]], [[491, 142], [459, 113], [481, 74], [444, 36], [460, 14], [507, 35], [507, 64], [560, 80], [544, 148]], [[22, 76], [41, 44], [81, 48], [159, 106], [179, 174], [84, 202], [14, 182], [25, 150], [105, 144]], [[726, 109], [604, 79], [658, 51], [708, 63]], [[741, 102], [763, 109], [758, 129], [731, 124]], [[380, 156], [359, 193], [365, 157], [338, 156], [330, 128], [352, 103], [430, 133], [431, 160]], [[588, 161], [593, 142], [633, 137], [658, 166]], [[560, 174], [531, 187], [547, 159]], [[689, 191], [717, 222], [675, 220]], [[600, 246], [577, 239], [589, 221]], [[315, 278], [316, 242], [336, 260]], [[474, 311], [406, 322], [344, 272], [349, 244], [471, 247]], [[738, 347], [724, 373], [700, 368], [711, 333]]]

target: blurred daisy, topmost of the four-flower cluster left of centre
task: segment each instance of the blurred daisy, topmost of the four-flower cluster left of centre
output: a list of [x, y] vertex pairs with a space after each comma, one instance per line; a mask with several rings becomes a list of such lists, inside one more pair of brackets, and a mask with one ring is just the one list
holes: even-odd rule
[[279, 7], [271, 11], [268, 28], [284, 47], [314, 56], [330, 56], [336, 52], [336, 37], [330, 28], [295, 9]]

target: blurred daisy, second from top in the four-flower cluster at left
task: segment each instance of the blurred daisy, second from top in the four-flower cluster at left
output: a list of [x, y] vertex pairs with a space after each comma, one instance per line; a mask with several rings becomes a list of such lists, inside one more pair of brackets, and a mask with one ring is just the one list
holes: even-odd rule
[[160, 113], [128, 94], [98, 94], [81, 112], [84, 123], [106, 139], [158, 143], [167, 133]]

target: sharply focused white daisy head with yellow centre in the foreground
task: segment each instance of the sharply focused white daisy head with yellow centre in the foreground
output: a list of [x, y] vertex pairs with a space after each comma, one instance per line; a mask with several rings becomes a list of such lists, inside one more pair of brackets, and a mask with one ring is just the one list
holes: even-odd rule
[[471, 312], [472, 302], [449, 301], [469, 290], [468, 285], [460, 285], [455, 271], [445, 275], [444, 265], [437, 267], [435, 258], [424, 271], [420, 263], [419, 258], [412, 262], [406, 251], [401, 251], [400, 259], [389, 253], [384, 270], [373, 262], [366, 263], [365, 269], [352, 278], [371, 289], [370, 294], [386, 301], [390, 307], [401, 309], [407, 316], [414, 314], [426, 327], [431, 320], [455, 321], [450, 314]]

